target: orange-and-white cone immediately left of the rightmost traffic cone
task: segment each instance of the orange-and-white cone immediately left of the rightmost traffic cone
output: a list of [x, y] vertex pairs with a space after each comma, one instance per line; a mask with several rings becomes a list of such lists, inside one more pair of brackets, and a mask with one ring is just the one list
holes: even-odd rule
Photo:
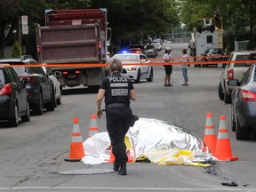
[[212, 124], [212, 113], [207, 113], [205, 131], [204, 131], [204, 143], [210, 149], [210, 152], [214, 155], [216, 148], [217, 137], [214, 132], [214, 126]]

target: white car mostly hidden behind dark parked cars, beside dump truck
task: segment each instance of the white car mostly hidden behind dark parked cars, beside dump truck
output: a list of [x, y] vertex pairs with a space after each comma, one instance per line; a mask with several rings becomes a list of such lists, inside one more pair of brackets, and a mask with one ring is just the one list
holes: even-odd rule
[[48, 74], [49, 77], [52, 79], [53, 86], [54, 86], [54, 92], [55, 92], [55, 100], [56, 104], [61, 104], [61, 90], [60, 90], [60, 82], [58, 81], [56, 76], [61, 76], [60, 71], [56, 71], [54, 74], [52, 73], [52, 70], [50, 68], [42, 67], [45, 74]]

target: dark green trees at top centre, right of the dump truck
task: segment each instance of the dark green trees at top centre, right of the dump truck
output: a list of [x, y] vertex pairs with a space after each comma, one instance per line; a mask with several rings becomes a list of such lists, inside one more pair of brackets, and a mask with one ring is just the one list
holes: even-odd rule
[[94, 0], [91, 8], [107, 8], [112, 51], [138, 44], [144, 36], [158, 37], [180, 25], [175, 0]]

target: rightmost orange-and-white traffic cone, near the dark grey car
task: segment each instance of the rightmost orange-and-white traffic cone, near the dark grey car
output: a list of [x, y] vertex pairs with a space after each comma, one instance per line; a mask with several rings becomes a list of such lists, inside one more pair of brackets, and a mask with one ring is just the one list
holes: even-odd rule
[[216, 143], [215, 157], [223, 161], [236, 161], [238, 159], [238, 156], [232, 156], [230, 141], [228, 138], [226, 116], [220, 116], [220, 127]]

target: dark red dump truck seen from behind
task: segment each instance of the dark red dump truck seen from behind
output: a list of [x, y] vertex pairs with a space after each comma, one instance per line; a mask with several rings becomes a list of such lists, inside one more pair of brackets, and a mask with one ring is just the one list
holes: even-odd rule
[[96, 92], [108, 76], [105, 62], [110, 44], [107, 9], [45, 11], [45, 26], [36, 24], [38, 62], [56, 74], [60, 89], [84, 87]]

